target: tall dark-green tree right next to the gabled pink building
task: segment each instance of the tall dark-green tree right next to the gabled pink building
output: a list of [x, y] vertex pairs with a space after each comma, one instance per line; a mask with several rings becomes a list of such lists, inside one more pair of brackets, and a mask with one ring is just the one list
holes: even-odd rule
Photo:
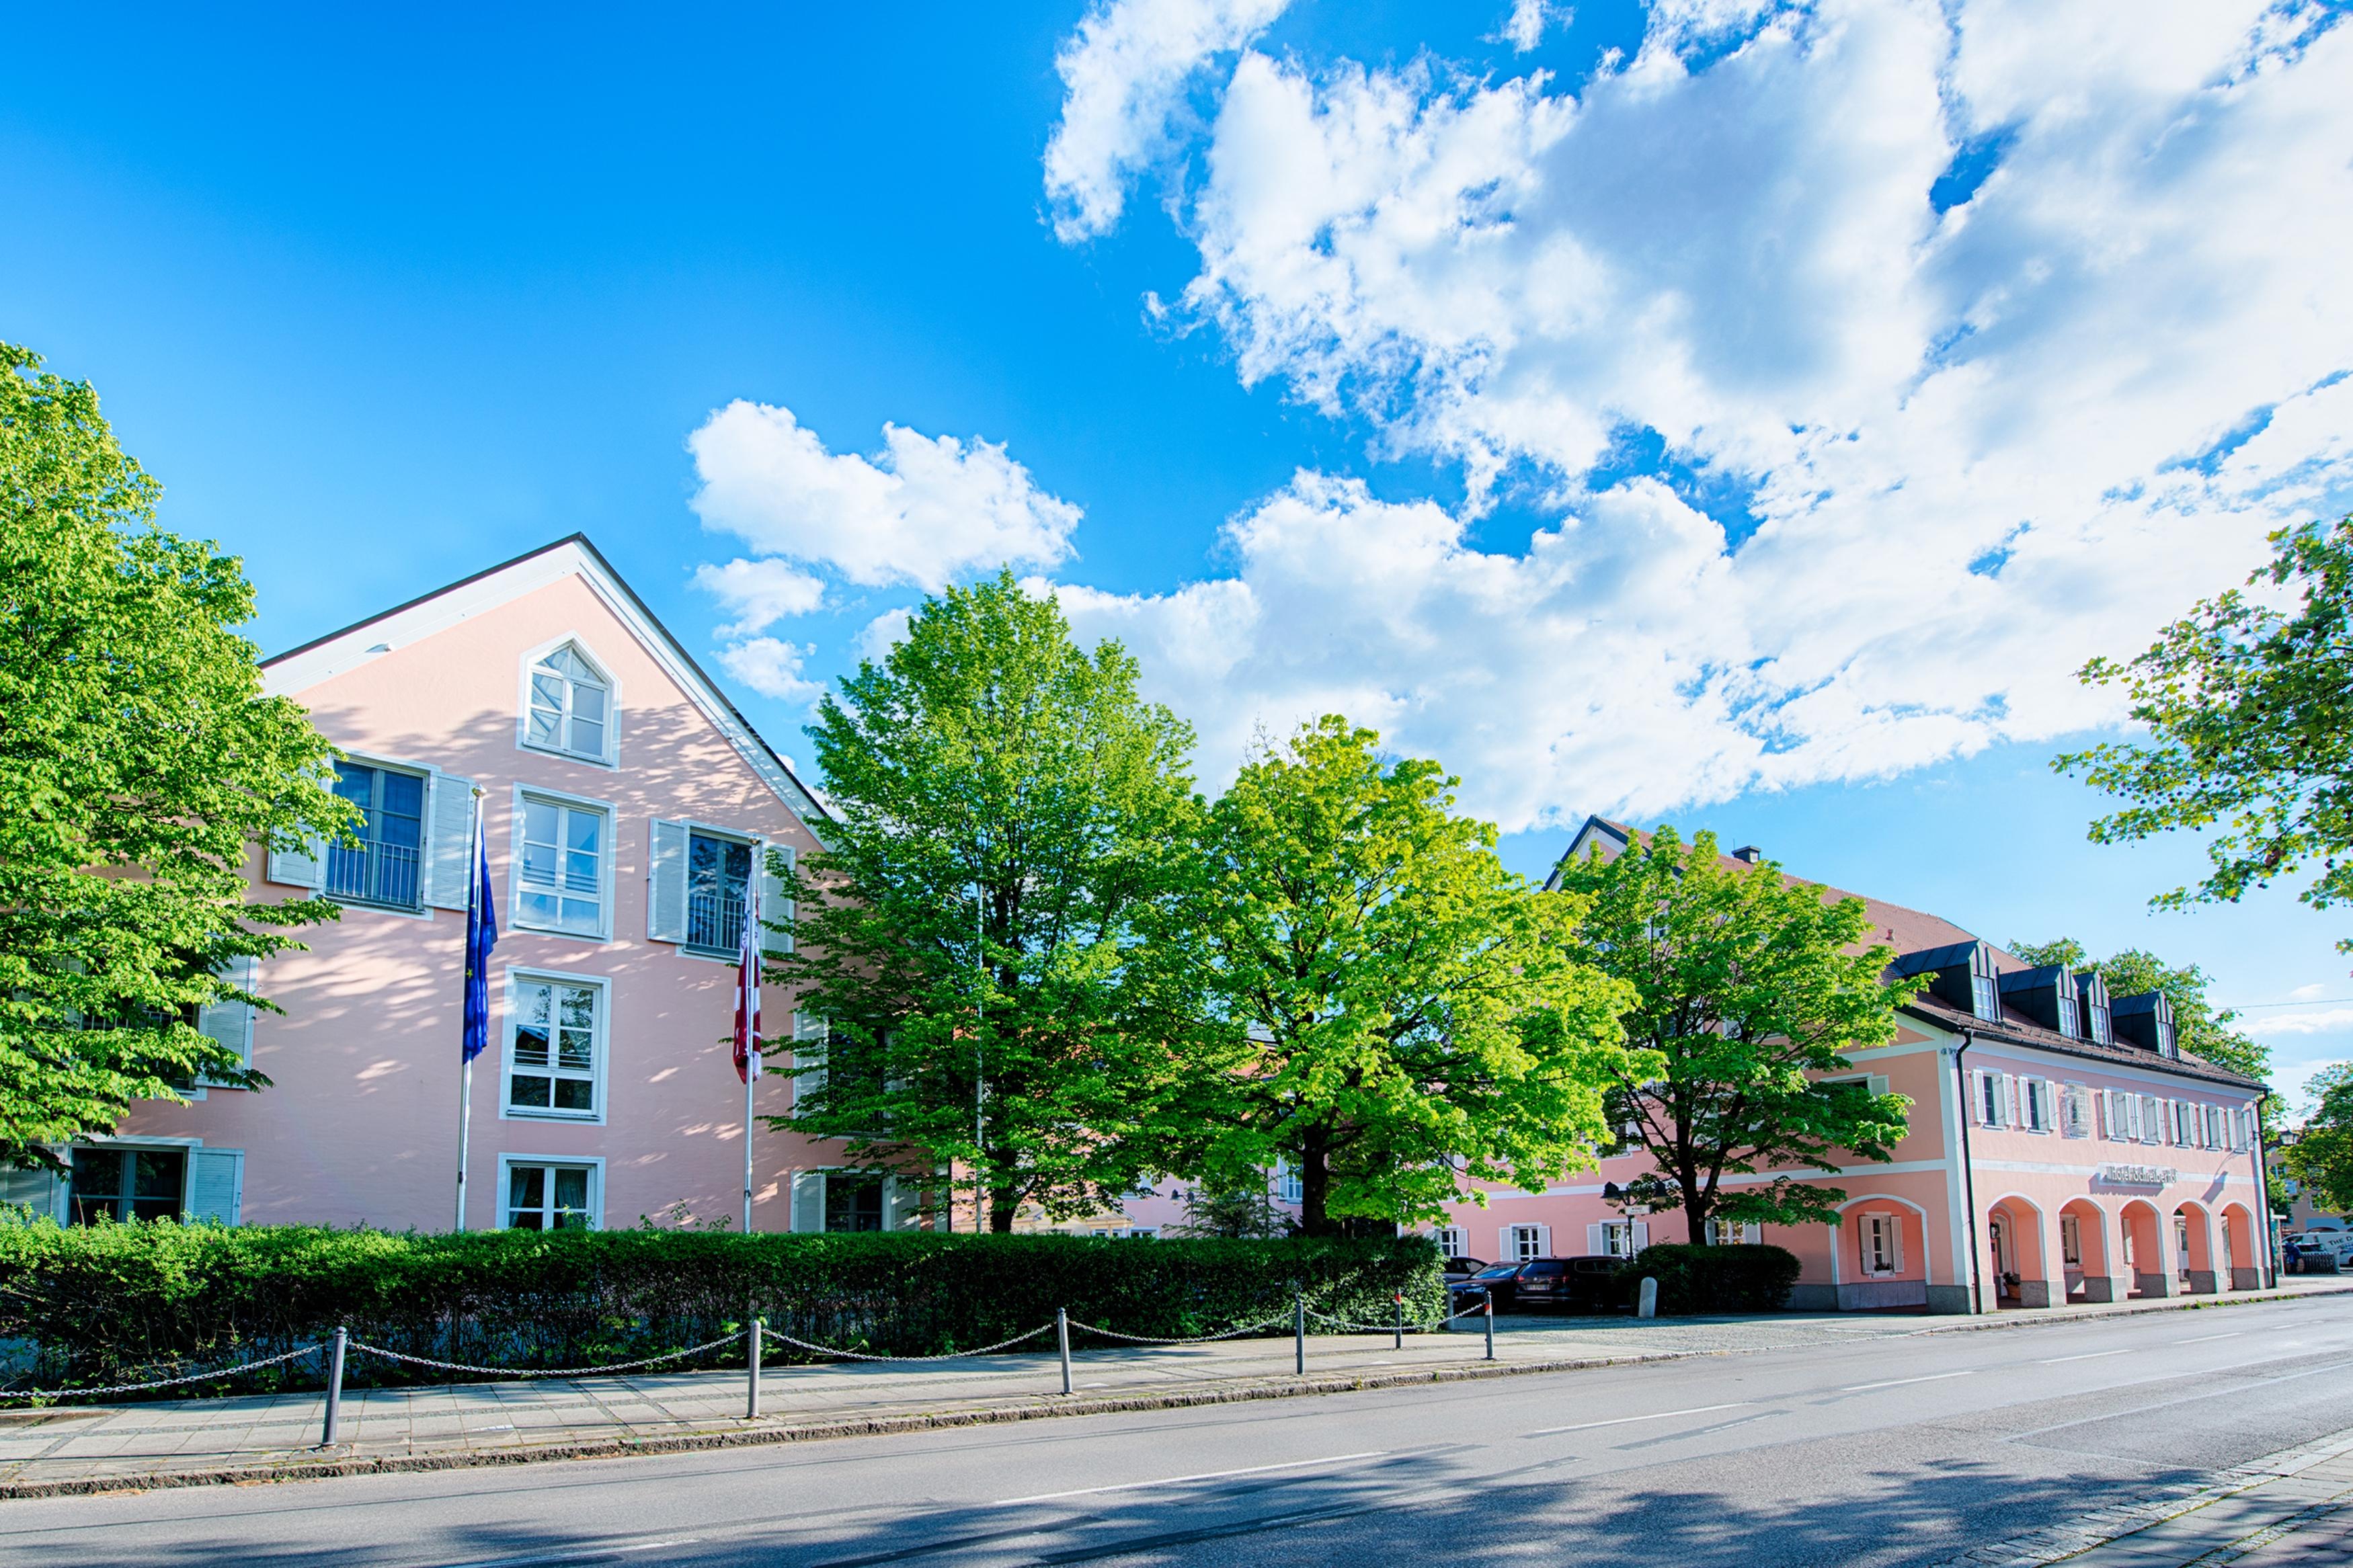
[[[852, 1154], [976, 1168], [1021, 1204], [1104, 1208], [1174, 1168], [1158, 1117], [1188, 1009], [1146, 933], [1191, 875], [1188, 726], [1012, 574], [927, 599], [809, 726], [835, 823], [795, 875], [781, 980], [824, 1016], [791, 1126]], [[798, 1063], [807, 1065], [807, 1063]]]

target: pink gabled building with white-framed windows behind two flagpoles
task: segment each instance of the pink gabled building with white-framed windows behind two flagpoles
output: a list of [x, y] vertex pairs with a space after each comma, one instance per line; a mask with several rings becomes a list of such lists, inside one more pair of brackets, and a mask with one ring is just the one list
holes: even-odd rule
[[[282, 1016], [202, 1020], [273, 1086], [139, 1107], [71, 1150], [71, 1185], [19, 1175], [5, 1197], [59, 1218], [449, 1227], [480, 790], [501, 940], [466, 1225], [739, 1222], [727, 1034], [746, 872], [767, 849], [816, 849], [826, 820], [791, 764], [581, 536], [264, 670], [341, 748], [336, 788], [367, 816], [360, 849], [254, 856], [261, 898], [344, 907], [252, 985]], [[762, 1009], [791, 1039], [793, 999], [769, 990]], [[758, 1110], [791, 1098], [767, 1077]], [[913, 1190], [838, 1147], [762, 1126], [753, 1157], [760, 1229], [920, 1222]]]

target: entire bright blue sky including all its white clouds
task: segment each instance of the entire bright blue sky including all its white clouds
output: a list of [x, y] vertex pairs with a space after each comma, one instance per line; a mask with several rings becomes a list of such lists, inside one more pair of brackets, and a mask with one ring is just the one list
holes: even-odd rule
[[584, 529], [795, 752], [1014, 564], [1209, 783], [1344, 708], [1527, 870], [1711, 823], [2353, 1053], [2348, 922], [2047, 769], [2353, 503], [2341, 7], [868, 9], [16, 16], [0, 334], [266, 649]]

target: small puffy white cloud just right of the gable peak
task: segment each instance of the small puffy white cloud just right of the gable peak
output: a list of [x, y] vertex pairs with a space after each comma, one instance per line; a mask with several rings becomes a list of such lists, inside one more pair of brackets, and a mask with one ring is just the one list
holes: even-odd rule
[[984, 440], [882, 425], [873, 458], [833, 454], [791, 409], [736, 400], [687, 449], [704, 527], [868, 588], [939, 590], [972, 569], [1052, 567], [1071, 555], [1078, 527], [1075, 505]]

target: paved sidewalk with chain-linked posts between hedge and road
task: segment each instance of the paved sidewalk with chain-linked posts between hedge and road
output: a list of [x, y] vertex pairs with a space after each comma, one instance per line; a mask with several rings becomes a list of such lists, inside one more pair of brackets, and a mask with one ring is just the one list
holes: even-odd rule
[[[2297, 1281], [2113, 1307], [2007, 1312], [1979, 1319], [1772, 1314], [1744, 1319], [1497, 1319], [1485, 1335], [1318, 1335], [1306, 1375], [1292, 1340], [1075, 1349], [1073, 1392], [1047, 1354], [908, 1366], [784, 1366], [760, 1380], [746, 1420], [744, 1371], [546, 1378], [447, 1387], [348, 1389], [339, 1441], [320, 1448], [322, 1394], [179, 1399], [0, 1413], [0, 1497], [146, 1486], [275, 1481], [384, 1469], [513, 1465], [548, 1458], [668, 1453], [821, 1436], [908, 1432], [1042, 1415], [1179, 1408], [1409, 1382], [1574, 1371], [1708, 1354], [1795, 1349], [1852, 1340], [2057, 1326], [2141, 1312], [2224, 1309], [2353, 1293], [2353, 1281]], [[1073, 1335], [1085, 1345], [1085, 1335]]]

